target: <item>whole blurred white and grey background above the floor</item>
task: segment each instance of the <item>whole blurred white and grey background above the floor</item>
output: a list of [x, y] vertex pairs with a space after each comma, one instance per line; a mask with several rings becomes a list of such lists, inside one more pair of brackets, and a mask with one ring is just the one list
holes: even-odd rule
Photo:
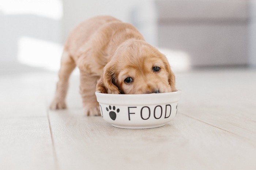
[[256, 66], [255, 0], [0, 0], [0, 66], [57, 71], [69, 31], [96, 15], [135, 25], [176, 71]]

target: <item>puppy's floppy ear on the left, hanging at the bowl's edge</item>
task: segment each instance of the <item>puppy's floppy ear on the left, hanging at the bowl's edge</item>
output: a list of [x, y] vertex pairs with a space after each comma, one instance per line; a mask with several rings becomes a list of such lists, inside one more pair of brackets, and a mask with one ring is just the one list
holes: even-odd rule
[[120, 90], [116, 86], [114, 66], [111, 64], [105, 66], [104, 72], [97, 83], [96, 90], [101, 91], [101, 93], [120, 94]]

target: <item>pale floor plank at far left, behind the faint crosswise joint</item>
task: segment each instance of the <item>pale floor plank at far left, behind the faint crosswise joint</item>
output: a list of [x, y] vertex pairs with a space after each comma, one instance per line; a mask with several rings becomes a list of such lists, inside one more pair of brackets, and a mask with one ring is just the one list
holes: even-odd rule
[[0, 118], [46, 116], [45, 72], [1, 75]]

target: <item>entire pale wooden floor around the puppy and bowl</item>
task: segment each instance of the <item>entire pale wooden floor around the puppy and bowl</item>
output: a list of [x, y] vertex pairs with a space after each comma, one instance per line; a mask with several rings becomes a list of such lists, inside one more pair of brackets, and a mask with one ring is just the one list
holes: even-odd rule
[[178, 113], [163, 127], [118, 129], [82, 114], [72, 75], [67, 110], [48, 110], [57, 74], [0, 68], [1, 170], [255, 170], [256, 70], [176, 73]]

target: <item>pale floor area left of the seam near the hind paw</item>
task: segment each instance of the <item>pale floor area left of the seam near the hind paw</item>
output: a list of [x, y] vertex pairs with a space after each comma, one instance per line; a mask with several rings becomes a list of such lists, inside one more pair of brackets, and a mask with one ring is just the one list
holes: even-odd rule
[[0, 71], [0, 169], [57, 170], [46, 107], [52, 73], [8, 68]]

